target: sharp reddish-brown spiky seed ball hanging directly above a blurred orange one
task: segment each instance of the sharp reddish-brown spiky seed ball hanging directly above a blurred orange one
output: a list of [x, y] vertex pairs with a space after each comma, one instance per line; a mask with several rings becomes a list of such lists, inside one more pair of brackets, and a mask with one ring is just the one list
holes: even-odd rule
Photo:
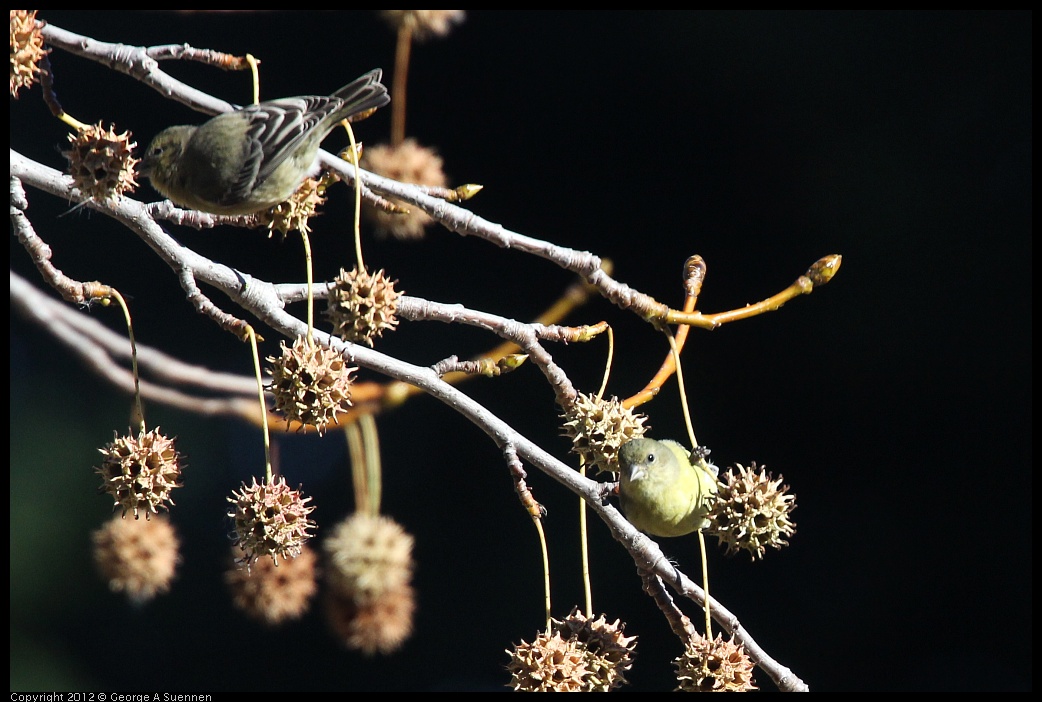
[[281, 476], [263, 483], [254, 477], [253, 484], [243, 483], [240, 492], [232, 492], [228, 502], [235, 508], [228, 517], [235, 523], [239, 562], [249, 566], [260, 556], [271, 556], [277, 566], [279, 558], [299, 556], [313, 535], [307, 530], [316, 526], [307, 519], [315, 510], [307, 504], [311, 499], [287, 485]]

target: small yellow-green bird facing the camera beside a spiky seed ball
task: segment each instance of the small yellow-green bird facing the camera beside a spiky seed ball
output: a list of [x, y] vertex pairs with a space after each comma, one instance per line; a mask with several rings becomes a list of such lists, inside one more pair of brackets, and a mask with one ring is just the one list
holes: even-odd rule
[[684, 536], [709, 526], [716, 503], [716, 475], [704, 459], [671, 440], [635, 438], [619, 449], [622, 513], [652, 536]]

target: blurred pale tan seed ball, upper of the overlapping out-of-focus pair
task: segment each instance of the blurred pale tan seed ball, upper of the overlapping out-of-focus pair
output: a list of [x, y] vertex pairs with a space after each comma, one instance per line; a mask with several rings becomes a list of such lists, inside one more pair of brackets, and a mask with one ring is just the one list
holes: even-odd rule
[[408, 584], [413, 536], [388, 517], [356, 512], [325, 541], [326, 581], [341, 597], [367, 602]]

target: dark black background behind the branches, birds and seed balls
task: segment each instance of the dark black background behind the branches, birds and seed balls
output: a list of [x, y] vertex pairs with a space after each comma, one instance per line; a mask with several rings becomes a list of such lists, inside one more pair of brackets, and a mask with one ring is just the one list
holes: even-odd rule
[[[394, 68], [393, 34], [371, 14], [41, 17], [98, 40], [252, 52], [266, 98], [329, 93], [375, 66], [390, 81]], [[713, 592], [812, 690], [1032, 687], [1031, 25], [1029, 12], [476, 11], [414, 50], [407, 131], [439, 150], [453, 184], [486, 186], [469, 205], [481, 217], [612, 258], [620, 280], [672, 304], [684, 259], [701, 254], [704, 311], [767, 297], [818, 257], [843, 255], [826, 287], [694, 331], [685, 354], [696, 431], [716, 462], [765, 463], [799, 505], [792, 546], [763, 562], [714, 547]], [[115, 122], [139, 144], [201, 121], [98, 65], [60, 51], [52, 61], [70, 114]], [[248, 74], [163, 68], [249, 100]], [[10, 105], [13, 147], [61, 168], [67, 128], [40, 89]], [[383, 110], [356, 133], [375, 144], [389, 125]], [[342, 134], [327, 142], [343, 145]], [[139, 196], [155, 198], [147, 186]], [[139, 240], [28, 197], [58, 268], [131, 298], [141, 343], [250, 372], [246, 347], [195, 315]], [[349, 202], [336, 193], [313, 222], [319, 279], [353, 260]], [[173, 231], [260, 277], [303, 279], [299, 239]], [[519, 320], [571, 282], [440, 228], [365, 246], [367, 264], [408, 294]], [[14, 242], [11, 267], [39, 280]], [[121, 328], [115, 311], [92, 314]], [[601, 300], [568, 322], [602, 319], [616, 330], [609, 392], [631, 394], [666, 347]], [[405, 323], [378, 347], [426, 365], [494, 344]], [[224, 499], [263, 470], [259, 433], [155, 403], [150, 424], [189, 456], [172, 513], [184, 562], [169, 595], [129, 606], [90, 560], [90, 532], [109, 513], [91, 467], [125, 429], [127, 398], [18, 318], [10, 349], [13, 690], [503, 690], [503, 650], [540, 630], [536, 534], [498, 452], [429, 398], [379, 420], [383, 510], [417, 542], [416, 632], [400, 652], [342, 650], [320, 607], [276, 630], [231, 608]], [[602, 342], [549, 349], [596, 391]], [[684, 437], [675, 388], [645, 407], [656, 436]], [[574, 461], [535, 369], [467, 391]], [[279, 453], [322, 525], [352, 508], [337, 433], [280, 438]], [[540, 475], [530, 483], [550, 510], [562, 617], [581, 603], [574, 498]], [[627, 690], [671, 688], [676, 640], [623, 550], [599, 522], [591, 532], [595, 609], [640, 636]], [[697, 574], [695, 540], [663, 546]]]

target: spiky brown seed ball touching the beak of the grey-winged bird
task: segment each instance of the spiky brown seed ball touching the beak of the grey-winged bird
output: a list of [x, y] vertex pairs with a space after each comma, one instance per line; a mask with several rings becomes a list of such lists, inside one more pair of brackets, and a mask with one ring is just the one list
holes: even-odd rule
[[71, 145], [63, 154], [69, 159], [73, 184], [92, 200], [115, 200], [138, 187], [135, 169], [141, 159], [131, 154], [138, 146], [130, 132], [117, 134], [101, 122], [69, 134]]

